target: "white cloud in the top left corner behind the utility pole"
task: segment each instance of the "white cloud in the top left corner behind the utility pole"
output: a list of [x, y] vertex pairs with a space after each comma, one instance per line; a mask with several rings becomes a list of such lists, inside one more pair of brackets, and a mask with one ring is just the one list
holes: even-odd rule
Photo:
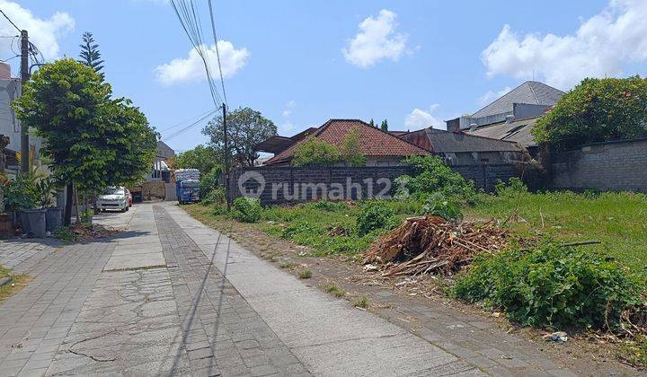
[[[20, 4], [11, 1], [0, 0], [0, 9], [22, 30], [29, 31], [30, 41], [39, 48], [45, 59], [50, 60], [60, 57], [60, 48], [58, 39], [65, 36], [75, 29], [75, 20], [69, 14], [57, 12], [52, 14], [49, 19], [40, 19], [31, 13], [29, 9], [23, 8]], [[10, 36], [18, 35], [11, 23], [1, 17], [0, 35]], [[14, 52], [20, 53], [20, 39], [0, 38], [1, 58], [13, 57]], [[13, 61], [12, 61], [13, 63]], [[16, 68], [17, 63], [13, 63]]]

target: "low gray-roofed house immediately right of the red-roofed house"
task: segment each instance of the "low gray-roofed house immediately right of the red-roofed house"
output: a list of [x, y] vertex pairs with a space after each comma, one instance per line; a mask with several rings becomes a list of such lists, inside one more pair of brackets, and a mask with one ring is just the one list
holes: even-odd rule
[[525, 156], [524, 148], [515, 142], [474, 136], [460, 130], [429, 127], [398, 137], [442, 156], [449, 165], [517, 162]]

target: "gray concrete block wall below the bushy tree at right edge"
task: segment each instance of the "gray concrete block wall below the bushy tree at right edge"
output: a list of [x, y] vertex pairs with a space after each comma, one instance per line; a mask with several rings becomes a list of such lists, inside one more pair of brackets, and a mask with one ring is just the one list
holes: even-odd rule
[[555, 153], [549, 187], [647, 192], [647, 139], [589, 145]]

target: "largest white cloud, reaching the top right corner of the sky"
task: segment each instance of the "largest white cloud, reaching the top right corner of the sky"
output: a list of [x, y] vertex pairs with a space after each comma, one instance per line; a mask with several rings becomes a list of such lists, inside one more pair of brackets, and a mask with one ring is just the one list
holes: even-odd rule
[[482, 53], [487, 75], [511, 75], [569, 89], [584, 77], [621, 75], [626, 62], [647, 60], [647, 2], [610, 0], [572, 34], [519, 35], [503, 26]]

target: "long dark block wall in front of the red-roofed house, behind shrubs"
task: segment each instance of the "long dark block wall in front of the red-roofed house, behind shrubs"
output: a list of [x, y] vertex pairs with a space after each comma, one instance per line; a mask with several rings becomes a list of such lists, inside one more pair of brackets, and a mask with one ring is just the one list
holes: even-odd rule
[[[451, 168], [461, 174], [465, 180], [473, 180], [477, 188], [487, 191], [494, 189], [497, 180], [507, 181], [510, 177], [519, 175], [518, 168], [510, 163], [453, 165]], [[263, 205], [306, 202], [321, 199], [324, 194], [334, 199], [335, 187], [341, 187], [344, 193], [343, 197], [337, 199], [358, 200], [394, 192], [395, 179], [404, 174], [411, 174], [411, 168], [408, 166], [244, 168], [232, 171], [230, 192], [233, 198], [250, 196], [249, 193], [256, 193], [261, 189], [261, 183], [256, 178], [262, 177], [264, 187], [259, 198]], [[242, 180], [241, 177], [243, 177]]]

